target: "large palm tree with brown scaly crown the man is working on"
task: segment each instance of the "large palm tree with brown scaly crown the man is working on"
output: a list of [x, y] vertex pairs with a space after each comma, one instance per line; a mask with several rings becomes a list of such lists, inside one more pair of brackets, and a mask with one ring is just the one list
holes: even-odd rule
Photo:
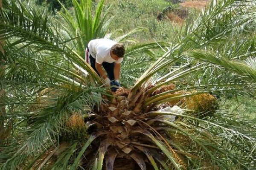
[[253, 3], [213, 0], [135, 85], [111, 93], [48, 16], [3, 1], [3, 102], [14, 121], [0, 168], [252, 169], [253, 121], [166, 106], [209, 91], [254, 90], [255, 70], [240, 61], [255, 54]]

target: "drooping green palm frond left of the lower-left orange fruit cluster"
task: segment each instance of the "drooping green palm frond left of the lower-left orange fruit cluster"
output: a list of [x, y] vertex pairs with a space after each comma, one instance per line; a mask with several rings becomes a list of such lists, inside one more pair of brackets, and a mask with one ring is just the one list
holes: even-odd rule
[[[56, 89], [56, 86], [54, 89]], [[102, 98], [98, 94], [100, 89], [80, 89], [79, 91], [77, 91], [77, 89], [65, 89], [65, 87], [63, 90], [60, 89], [60, 91], [54, 89], [52, 90], [53, 93], [46, 93], [43, 97], [40, 97], [39, 99], [42, 100], [41, 102], [38, 101], [35, 104], [30, 104], [31, 106], [28, 111], [25, 113], [17, 112], [14, 117], [17, 120], [22, 121], [23, 124], [25, 123], [25, 127], [26, 122], [28, 121], [27, 123], [29, 123], [29, 127], [24, 129], [23, 136], [20, 137], [20, 139], [17, 139], [19, 141], [24, 140], [24, 142], [19, 147], [15, 148], [15, 155], [18, 157], [19, 153], [21, 154], [23, 152], [23, 149], [28, 153], [19, 158], [20, 161], [28, 159], [31, 154], [35, 155], [38, 150], [44, 150], [44, 148], [54, 146], [56, 140], [61, 140], [58, 139], [57, 136], [65, 130], [63, 125], [65, 125], [65, 121], [67, 121], [70, 113], [80, 112], [87, 115], [90, 113], [90, 108], [93, 108], [94, 106], [97, 107], [99, 102], [102, 101]], [[60, 96], [59, 94], [64, 95]], [[30, 94], [30, 97], [32, 96], [37, 96], [37, 94]], [[12, 98], [14, 98], [14, 96], [9, 97], [10, 100]], [[8, 98], [6, 99], [6, 102], [8, 103]], [[18, 106], [24, 104], [29, 105], [28, 101], [15, 103], [17, 111]], [[10, 153], [12, 152], [3, 154], [6, 154], [6, 158], [8, 158]], [[20, 164], [20, 162], [17, 162], [17, 159], [13, 159], [6, 161], [6, 163], [1, 166], [15, 167], [17, 164]]]

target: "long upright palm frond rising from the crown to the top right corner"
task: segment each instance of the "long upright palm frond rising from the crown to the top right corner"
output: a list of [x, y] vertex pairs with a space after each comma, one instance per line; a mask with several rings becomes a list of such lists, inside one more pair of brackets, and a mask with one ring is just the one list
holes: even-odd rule
[[[216, 2], [215, 0], [209, 5], [205, 12], [199, 15], [198, 20], [190, 24], [190, 26], [186, 27], [186, 34], [184, 37], [180, 37], [180, 41], [177, 45], [173, 45], [166, 54], [163, 55], [162, 58], [158, 59], [154, 65], [149, 67], [148, 71], [138, 79], [136, 85], [131, 90], [131, 94], [134, 94], [134, 91], [143, 85], [145, 81], [148, 81], [154, 74], [157, 74], [158, 71], [163, 70], [169, 67], [174, 62], [183, 62], [186, 57], [183, 53], [187, 50], [191, 49], [206, 49], [209, 51], [219, 50], [219, 51], [230, 51], [231, 46], [223, 45], [226, 42], [231, 42], [230, 37], [233, 35], [240, 34], [241, 36], [246, 34], [241, 32], [241, 26], [253, 26], [254, 22], [246, 22], [248, 20], [247, 11], [253, 11], [255, 8], [253, 6], [253, 2], [251, 3], [243, 3], [241, 1], [220, 1]], [[230, 8], [234, 9], [229, 10]], [[234, 17], [233, 17], [234, 16]], [[245, 17], [244, 22], [242, 22], [241, 18]], [[232, 20], [230, 19], [232, 17]], [[253, 16], [251, 17], [253, 18]], [[239, 23], [238, 23], [239, 20]], [[217, 27], [216, 27], [217, 26]], [[247, 32], [249, 35], [250, 33]], [[249, 36], [248, 36], [249, 37]], [[246, 51], [247, 47], [251, 47], [252, 51], [249, 54], [254, 54], [254, 42], [252, 36], [248, 41], [249, 43], [244, 43], [244, 45], [240, 46], [239, 54], [242, 54], [243, 51]], [[236, 39], [239, 40], [239, 39]], [[242, 41], [245, 42], [246, 38]], [[222, 48], [215, 48], [214, 45], [219, 45]], [[229, 49], [223, 48], [229, 47]], [[238, 54], [238, 53], [236, 53]], [[227, 54], [227, 56], [232, 56], [233, 53]]]

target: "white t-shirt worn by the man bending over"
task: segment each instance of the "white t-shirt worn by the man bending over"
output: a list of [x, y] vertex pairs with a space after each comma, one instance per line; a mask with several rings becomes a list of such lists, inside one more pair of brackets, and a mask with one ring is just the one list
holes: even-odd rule
[[91, 40], [88, 43], [88, 48], [91, 56], [96, 59], [97, 63], [102, 64], [102, 62], [108, 62], [108, 63], [116, 62], [117, 64], [119, 64], [122, 62], [122, 58], [119, 58], [118, 60], [114, 60], [110, 55], [111, 47], [115, 44], [116, 42], [110, 39], [99, 38], [99, 39]]

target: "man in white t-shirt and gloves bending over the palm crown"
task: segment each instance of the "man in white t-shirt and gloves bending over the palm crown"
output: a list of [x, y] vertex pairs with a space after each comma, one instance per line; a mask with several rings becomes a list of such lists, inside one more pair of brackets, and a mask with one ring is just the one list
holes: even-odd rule
[[[104, 79], [106, 85], [111, 85], [112, 91], [116, 91], [120, 87], [119, 74], [125, 54], [124, 46], [107, 38], [99, 38], [88, 43], [85, 54], [86, 62]], [[108, 76], [104, 74], [102, 66]]]

